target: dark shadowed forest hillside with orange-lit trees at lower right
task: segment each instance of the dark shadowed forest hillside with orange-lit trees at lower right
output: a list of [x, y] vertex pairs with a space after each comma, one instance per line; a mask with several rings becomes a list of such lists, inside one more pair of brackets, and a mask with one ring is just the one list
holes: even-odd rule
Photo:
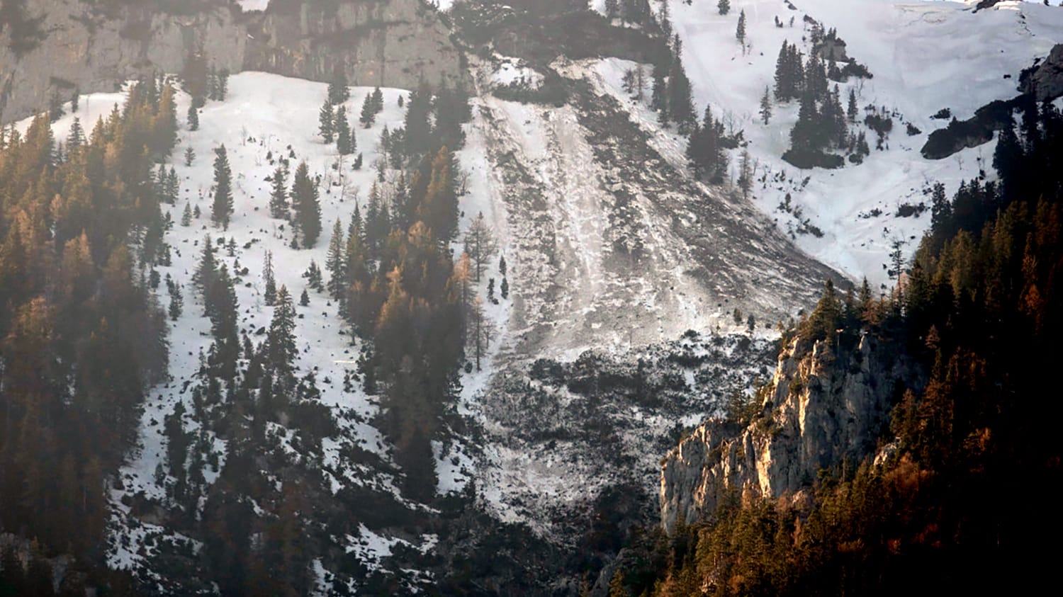
[[[832, 290], [795, 330], [902, 346], [928, 377], [898, 387], [880, 451], [824, 470], [778, 499], [722, 493], [712, 515], [647, 531], [610, 595], [988, 594], [1050, 582], [1044, 542], [1061, 481], [1050, 390], [1063, 308], [1058, 108], [1029, 104], [1001, 134], [999, 182], [947, 200], [908, 275], [881, 301]], [[882, 379], [889, 383], [891, 380]], [[756, 406], [754, 407], [756, 408]], [[1023, 570], [1019, 573], [1018, 570]]]

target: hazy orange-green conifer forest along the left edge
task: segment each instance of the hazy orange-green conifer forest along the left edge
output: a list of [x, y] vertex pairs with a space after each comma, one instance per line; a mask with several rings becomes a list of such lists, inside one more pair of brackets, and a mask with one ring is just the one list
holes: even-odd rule
[[145, 280], [169, 252], [152, 166], [175, 133], [174, 89], [152, 80], [88, 134], [56, 143], [44, 114], [0, 150], [0, 527], [81, 569], [101, 569], [103, 479], [167, 372]]

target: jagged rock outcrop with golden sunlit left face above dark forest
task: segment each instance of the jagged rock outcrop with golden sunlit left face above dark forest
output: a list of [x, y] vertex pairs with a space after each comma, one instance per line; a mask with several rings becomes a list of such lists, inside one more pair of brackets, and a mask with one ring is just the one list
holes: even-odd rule
[[[849, 353], [795, 341], [783, 349], [761, 414], [741, 428], [711, 420], [694, 430], [661, 467], [661, 523], [709, 515], [722, 491], [778, 497], [845, 458], [859, 462], [883, 432], [896, 383], [918, 383], [892, 346], [864, 335]], [[803, 357], [797, 355], [805, 354]]]

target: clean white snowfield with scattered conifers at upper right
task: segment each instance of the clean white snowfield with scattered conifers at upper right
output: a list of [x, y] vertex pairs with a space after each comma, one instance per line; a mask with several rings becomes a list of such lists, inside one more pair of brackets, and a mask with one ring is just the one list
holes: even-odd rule
[[[948, 123], [947, 118], [931, 117], [948, 108], [962, 120], [992, 100], [1016, 96], [1019, 72], [1063, 41], [1063, 8], [1040, 3], [999, 2], [977, 13], [973, 1], [732, 0], [730, 4], [729, 14], [720, 15], [716, 2], [669, 1], [695, 107], [701, 113], [711, 105], [729, 129], [744, 132], [756, 160], [754, 200], [781, 229], [817, 259], [856, 278], [866, 275], [875, 286], [891, 284], [885, 266], [894, 243], [906, 243], [904, 251], [910, 254], [929, 225], [929, 210], [898, 217], [902, 205], [929, 206], [926, 193], [933, 182], [944, 183], [951, 194], [961, 181], [992, 171], [995, 142], [946, 159], [924, 159], [918, 150], [927, 136]], [[601, 10], [604, 4], [596, 5]], [[747, 23], [744, 51], [736, 39], [742, 11]], [[843, 100], [854, 88], [861, 108], [896, 113], [897, 122], [883, 149], [873, 149], [861, 165], [799, 170], [783, 161], [797, 102], [773, 105], [770, 124], [760, 121], [760, 98], [765, 87], [774, 87], [783, 40], [796, 44], [805, 55], [812, 50], [807, 19], [837, 29], [848, 56], [874, 75], [841, 84]], [[607, 59], [597, 66], [595, 78], [600, 88], [629, 105], [632, 102], [620, 89], [623, 72], [631, 66]], [[919, 132], [907, 134], [907, 123]], [[858, 129], [865, 130], [862, 124]], [[873, 144], [874, 138], [868, 133]], [[681, 159], [679, 152], [676, 155]], [[731, 152], [732, 178], [738, 161], [739, 152]], [[787, 194], [792, 201], [783, 208]], [[811, 226], [823, 236], [798, 232]]]

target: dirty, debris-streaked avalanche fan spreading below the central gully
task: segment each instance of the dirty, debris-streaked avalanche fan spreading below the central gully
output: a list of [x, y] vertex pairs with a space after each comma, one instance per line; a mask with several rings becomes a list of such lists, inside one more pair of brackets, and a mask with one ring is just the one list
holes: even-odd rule
[[[603, 488], [652, 488], [656, 442], [674, 422], [714, 411], [723, 389], [743, 387], [730, 374], [745, 371], [752, 379], [765, 355], [742, 351], [744, 362], [728, 365], [709, 359], [728, 379], [710, 382], [716, 391], [708, 394], [691, 385], [690, 395], [664, 409], [642, 411], [623, 393], [595, 396], [591, 419], [610, 422], [623, 440], [604, 456], [601, 438], [581, 428], [584, 403], [544, 389], [533, 373], [538, 359], [631, 366], [654, 351], [678, 349], [644, 347], [688, 329], [744, 329], [736, 309], [759, 320], [758, 328], [774, 326], [837, 277], [753, 204], [693, 181], [660, 146], [660, 131], [639, 126], [645, 115], [628, 113], [584, 80], [589, 68], [558, 65], [568, 101], [554, 106], [494, 97], [499, 73], [520, 68], [506, 59], [475, 64], [479, 93], [461, 153], [469, 201], [490, 205], [495, 226], [506, 231], [514, 289], [493, 373], [482, 392], [467, 388], [479, 396], [490, 439], [477, 478], [492, 510], [536, 529], [555, 528], [550, 522], [559, 512], [586, 509]], [[528, 421], [529, 412], [559, 414]]]

